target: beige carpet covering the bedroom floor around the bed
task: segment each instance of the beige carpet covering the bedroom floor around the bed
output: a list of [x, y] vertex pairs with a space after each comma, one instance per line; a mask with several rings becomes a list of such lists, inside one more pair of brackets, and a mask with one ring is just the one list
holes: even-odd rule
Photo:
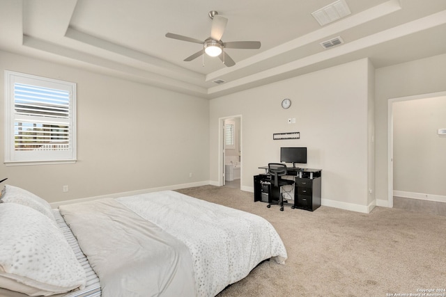
[[331, 207], [279, 211], [233, 188], [179, 192], [266, 218], [286, 246], [285, 265], [263, 262], [218, 296], [409, 296], [446, 288], [445, 216], [384, 207], [371, 214]]

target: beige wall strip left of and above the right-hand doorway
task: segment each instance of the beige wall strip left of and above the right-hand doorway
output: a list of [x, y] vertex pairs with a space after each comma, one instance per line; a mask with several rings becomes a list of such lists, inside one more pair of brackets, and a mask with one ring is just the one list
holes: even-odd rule
[[[375, 74], [375, 158], [376, 199], [387, 206], [388, 175], [388, 101], [446, 90], [446, 54], [383, 67]], [[420, 181], [422, 182], [422, 180]]]

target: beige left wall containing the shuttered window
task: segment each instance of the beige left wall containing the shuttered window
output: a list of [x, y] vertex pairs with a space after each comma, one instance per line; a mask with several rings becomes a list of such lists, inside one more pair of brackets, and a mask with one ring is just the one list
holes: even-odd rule
[[[77, 163], [1, 163], [8, 184], [49, 202], [208, 184], [208, 100], [0, 51], [4, 70], [77, 83]], [[0, 96], [3, 157], [3, 83]]]

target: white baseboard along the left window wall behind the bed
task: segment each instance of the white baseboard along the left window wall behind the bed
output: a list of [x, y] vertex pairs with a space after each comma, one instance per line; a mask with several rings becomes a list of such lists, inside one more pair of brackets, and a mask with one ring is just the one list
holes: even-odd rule
[[119, 197], [139, 195], [139, 194], [152, 193], [152, 192], [158, 192], [158, 191], [178, 190], [180, 188], [192, 188], [194, 186], [206, 186], [208, 184], [210, 184], [210, 181], [192, 182], [189, 184], [176, 184], [173, 186], [161, 186], [158, 188], [144, 188], [142, 190], [137, 190], [137, 191], [113, 193], [113, 194], [108, 194], [108, 195], [100, 195], [100, 196], [93, 196], [93, 197], [87, 197], [87, 198], [79, 198], [79, 199], [51, 202], [51, 203], [49, 203], [49, 205], [51, 205], [52, 208], [57, 208], [57, 207], [59, 207], [59, 205], [93, 201], [93, 200], [98, 200], [98, 199], [102, 199], [102, 198], [119, 198]]

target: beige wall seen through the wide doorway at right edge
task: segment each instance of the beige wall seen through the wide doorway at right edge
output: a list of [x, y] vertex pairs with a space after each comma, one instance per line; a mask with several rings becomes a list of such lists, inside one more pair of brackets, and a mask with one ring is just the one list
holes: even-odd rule
[[446, 97], [393, 103], [394, 191], [446, 202]]

